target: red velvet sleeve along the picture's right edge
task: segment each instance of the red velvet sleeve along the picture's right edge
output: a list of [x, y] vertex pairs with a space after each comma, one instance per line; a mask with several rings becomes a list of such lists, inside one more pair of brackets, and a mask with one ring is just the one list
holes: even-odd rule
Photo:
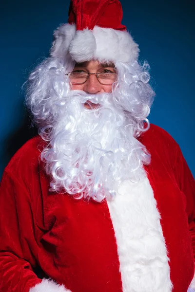
[[195, 180], [178, 145], [176, 149], [174, 171], [177, 184], [186, 196], [186, 213], [188, 215], [193, 254], [195, 258]]

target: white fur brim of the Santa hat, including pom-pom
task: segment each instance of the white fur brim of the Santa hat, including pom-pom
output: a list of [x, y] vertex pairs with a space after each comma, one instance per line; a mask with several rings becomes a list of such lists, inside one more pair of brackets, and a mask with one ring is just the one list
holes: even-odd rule
[[76, 31], [75, 24], [62, 24], [54, 32], [51, 55], [70, 54], [77, 62], [93, 58], [100, 61], [133, 63], [138, 58], [138, 45], [126, 31], [95, 26], [93, 30]]

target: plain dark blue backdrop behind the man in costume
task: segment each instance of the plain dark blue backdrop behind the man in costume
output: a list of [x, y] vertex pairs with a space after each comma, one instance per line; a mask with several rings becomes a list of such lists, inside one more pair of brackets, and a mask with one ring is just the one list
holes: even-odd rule
[[[123, 24], [151, 66], [156, 99], [150, 122], [180, 145], [195, 175], [195, 1], [121, 0]], [[36, 129], [23, 105], [21, 86], [48, 56], [52, 34], [67, 21], [68, 0], [7, 1], [0, 13], [0, 176], [15, 151]]]

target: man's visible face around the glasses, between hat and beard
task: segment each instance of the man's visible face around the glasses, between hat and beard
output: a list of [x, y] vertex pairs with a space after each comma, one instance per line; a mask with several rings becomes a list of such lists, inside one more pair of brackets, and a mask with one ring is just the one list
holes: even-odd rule
[[[100, 63], [99, 61], [88, 61], [83, 63], [76, 63], [73, 72], [86, 73], [117, 73], [113, 63]], [[110, 93], [112, 92], [111, 85], [103, 85], [98, 82], [96, 75], [89, 75], [87, 81], [83, 84], [71, 84], [72, 90], [85, 91], [88, 94]], [[87, 109], [95, 109], [97, 105], [87, 102], [84, 104]]]

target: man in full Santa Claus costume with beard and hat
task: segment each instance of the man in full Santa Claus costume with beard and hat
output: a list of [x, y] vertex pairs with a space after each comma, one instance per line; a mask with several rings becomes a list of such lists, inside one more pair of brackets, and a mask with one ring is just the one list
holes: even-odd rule
[[29, 76], [39, 136], [1, 182], [1, 292], [195, 289], [195, 182], [147, 119], [149, 65], [121, 19], [118, 0], [72, 0]]

